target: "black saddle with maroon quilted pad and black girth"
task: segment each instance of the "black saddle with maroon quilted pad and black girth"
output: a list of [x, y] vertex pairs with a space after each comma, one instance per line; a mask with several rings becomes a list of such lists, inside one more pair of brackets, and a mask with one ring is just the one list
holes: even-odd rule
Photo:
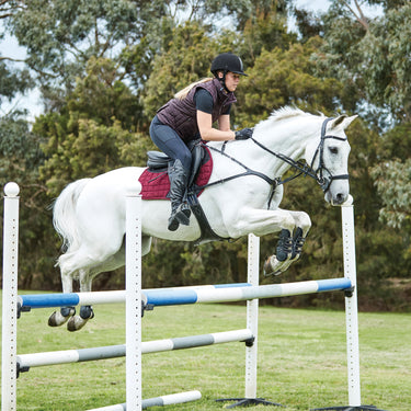
[[[203, 207], [198, 203], [198, 196], [203, 193], [213, 171], [213, 158], [208, 147], [201, 140], [189, 145], [192, 152], [192, 167], [187, 184], [187, 203], [201, 228], [201, 236], [196, 244], [206, 241], [226, 240], [216, 235], [208, 224]], [[169, 198], [170, 180], [168, 163], [172, 159], [161, 151], [147, 152], [147, 169], [138, 179], [141, 183], [142, 199], [165, 199]]]

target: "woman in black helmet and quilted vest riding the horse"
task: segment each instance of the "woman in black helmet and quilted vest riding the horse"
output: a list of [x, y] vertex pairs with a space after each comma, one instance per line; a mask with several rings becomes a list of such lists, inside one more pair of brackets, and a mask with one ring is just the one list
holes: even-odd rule
[[[233, 91], [243, 71], [241, 58], [224, 53], [212, 62], [214, 78], [187, 85], [174, 99], [158, 110], [150, 125], [152, 141], [173, 161], [169, 163], [171, 216], [168, 229], [189, 226], [191, 210], [185, 202], [192, 156], [191, 140], [243, 140], [252, 136], [251, 128], [230, 129], [230, 109], [237, 102]], [[218, 128], [213, 123], [218, 123]]]

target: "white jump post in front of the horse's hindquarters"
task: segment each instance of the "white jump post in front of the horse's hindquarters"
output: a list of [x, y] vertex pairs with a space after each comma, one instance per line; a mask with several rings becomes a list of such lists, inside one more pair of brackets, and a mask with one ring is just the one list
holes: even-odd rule
[[141, 396], [141, 185], [126, 197], [126, 403], [140, 411]]

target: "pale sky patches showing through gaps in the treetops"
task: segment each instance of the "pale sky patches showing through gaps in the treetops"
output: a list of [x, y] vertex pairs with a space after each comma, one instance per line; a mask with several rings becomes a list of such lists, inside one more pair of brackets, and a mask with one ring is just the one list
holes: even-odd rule
[[[294, 0], [295, 5], [299, 9], [306, 9], [308, 11], [321, 12], [327, 11], [330, 5], [330, 0]], [[378, 10], [374, 9], [369, 11], [370, 14], [378, 13]], [[294, 23], [289, 22], [290, 30], [293, 30]], [[24, 59], [25, 50], [20, 47], [15, 38], [5, 35], [4, 41], [0, 42], [0, 56], [8, 56], [16, 59]], [[26, 95], [20, 95], [14, 99], [11, 103], [3, 103], [0, 107], [0, 116], [7, 114], [12, 109], [27, 109], [28, 121], [34, 121], [36, 116], [42, 114], [43, 105], [41, 102], [41, 94], [38, 90], [33, 90]]]

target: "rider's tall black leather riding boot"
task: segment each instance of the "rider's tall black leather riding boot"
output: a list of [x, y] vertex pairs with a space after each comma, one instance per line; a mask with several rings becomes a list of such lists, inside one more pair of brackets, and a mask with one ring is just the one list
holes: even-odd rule
[[171, 215], [169, 218], [168, 229], [175, 231], [179, 225], [190, 225], [191, 210], [189, 205], [184, 202], [184, 194], [189, 180], [189, 173], [185, 171], [183, 163], [175, 160], [174, 164], [169, 163], [170, 178], [170, 199], [171, 199]]

